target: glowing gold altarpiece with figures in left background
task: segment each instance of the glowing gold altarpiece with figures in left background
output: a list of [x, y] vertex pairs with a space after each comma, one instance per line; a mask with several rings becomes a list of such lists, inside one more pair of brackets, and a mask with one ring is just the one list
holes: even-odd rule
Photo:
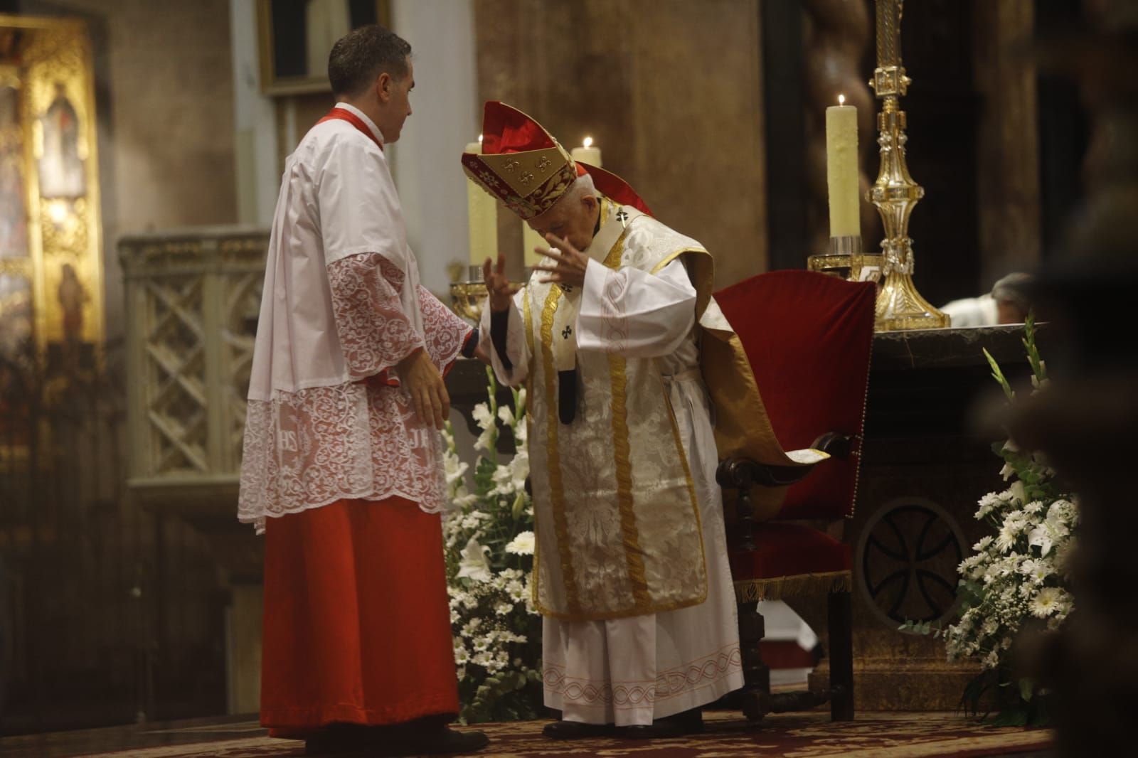
[[0, 357], [93, 365], [101, 237], [86, 28], [0, 15]]

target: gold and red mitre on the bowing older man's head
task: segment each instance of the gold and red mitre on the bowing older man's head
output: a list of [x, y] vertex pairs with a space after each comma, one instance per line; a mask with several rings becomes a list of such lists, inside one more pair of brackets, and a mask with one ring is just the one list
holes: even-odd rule
[[483, 112], [483, 151], [463, 153], [462, 170], [523, 220], [549, 211], [586, 173], [599, 192], [651, 215], [625, 180], [575, 162], [541, 124], [497, 100], [487, 100]]

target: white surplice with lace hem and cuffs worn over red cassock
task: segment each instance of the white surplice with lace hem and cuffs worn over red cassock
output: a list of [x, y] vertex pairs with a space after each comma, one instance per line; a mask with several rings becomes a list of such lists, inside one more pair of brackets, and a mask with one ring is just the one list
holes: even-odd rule
[[238, 518], [264, 528], [341, 499], [445, 510], [440, 442], [396, 365], [439, 370], [470, 327], [419, 283], [380, 148], [352, 124], [315, 125], [284, 164], [249, 379]]

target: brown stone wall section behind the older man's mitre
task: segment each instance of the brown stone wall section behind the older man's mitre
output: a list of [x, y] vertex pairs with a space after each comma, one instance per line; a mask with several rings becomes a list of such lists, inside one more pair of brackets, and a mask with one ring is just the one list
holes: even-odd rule
[[[757, 0], [476, 0], [478, 93], [604, 167], [716, 258], [716, 285], [767, 267]], [[520, 261], [520, 222], [498, 239]]]

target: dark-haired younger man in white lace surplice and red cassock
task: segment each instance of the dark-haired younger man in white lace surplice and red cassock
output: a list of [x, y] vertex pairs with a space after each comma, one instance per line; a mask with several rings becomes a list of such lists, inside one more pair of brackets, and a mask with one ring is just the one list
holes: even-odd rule
[[439, 511], [443, 374], [472, 330], [419, 283], [384, 154], [411, 47], [332, 48], [336, 107], [286, 160], [249, 380], [239, 518], [265, 535], [261, 723], [310, 752], [460, 752]]

